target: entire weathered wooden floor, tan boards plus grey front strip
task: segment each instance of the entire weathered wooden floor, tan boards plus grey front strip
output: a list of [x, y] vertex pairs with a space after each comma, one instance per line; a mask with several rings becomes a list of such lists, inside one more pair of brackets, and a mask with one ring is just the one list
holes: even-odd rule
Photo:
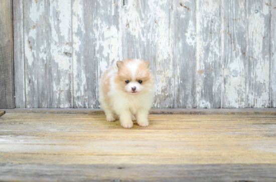
[[5, 113], [0, 181], [276, 181], [275, 114]]

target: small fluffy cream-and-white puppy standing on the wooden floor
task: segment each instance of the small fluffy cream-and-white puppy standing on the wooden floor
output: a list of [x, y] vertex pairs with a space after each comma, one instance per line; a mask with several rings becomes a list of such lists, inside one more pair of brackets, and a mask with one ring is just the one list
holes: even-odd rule
[[115, 121], [114, 113], [125, 128], [136, 120], [140, 126], [148, 126], [148, 114], [154, 95], [154, 75], [150, 61], [127, 59], [117, 61], [99, 81], [99, 100], [106, 120]]

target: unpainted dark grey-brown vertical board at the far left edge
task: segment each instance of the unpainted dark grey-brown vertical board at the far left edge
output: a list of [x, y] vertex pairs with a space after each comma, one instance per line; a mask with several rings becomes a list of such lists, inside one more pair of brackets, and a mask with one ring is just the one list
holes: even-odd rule
[[0, 108], [15, 107], [13, 1], [0, 1]]

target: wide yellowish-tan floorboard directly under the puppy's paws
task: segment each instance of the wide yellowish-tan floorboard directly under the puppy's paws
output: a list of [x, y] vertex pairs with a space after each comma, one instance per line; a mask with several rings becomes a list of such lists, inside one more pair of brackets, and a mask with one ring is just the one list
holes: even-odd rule
[[275, 115], [153, 114], [149, 118], [149, 127], [134, 124], [124, 129], [118, 121], [105, 121], [104, 115], [6, 113], [0, 118], [0, 162], [276, 162]]

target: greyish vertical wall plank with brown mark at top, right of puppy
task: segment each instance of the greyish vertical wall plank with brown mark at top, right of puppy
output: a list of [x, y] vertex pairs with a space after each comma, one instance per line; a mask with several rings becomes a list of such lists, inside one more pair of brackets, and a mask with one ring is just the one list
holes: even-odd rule
[[173, 0], [172, 107], [196, 107], [196, 1]]

